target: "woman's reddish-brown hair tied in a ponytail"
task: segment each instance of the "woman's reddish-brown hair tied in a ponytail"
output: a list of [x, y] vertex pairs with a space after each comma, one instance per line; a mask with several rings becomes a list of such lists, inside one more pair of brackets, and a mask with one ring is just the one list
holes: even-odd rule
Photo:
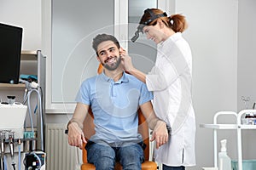
[[[150, 10], [150, 11], [148, 11]], [[144, 11], [144, 14], [140, 20], [140, 24], [145, 23], [147, 20], [152, 18], [151, 14], [154, 15], [164, 14], [164, 12], [159, 8], [150, 8]], [[166, 26], [171, 28], [175, 32], [183, 32], [188, 28], [188, 23], [185, 20], [185, 17], [182, 14], [172, 14], [171, 16], [163, 16], [152, 20], [147, 24], [147, 26], [155, 26], [157, 24], [157, 20], [162, 20]]]

